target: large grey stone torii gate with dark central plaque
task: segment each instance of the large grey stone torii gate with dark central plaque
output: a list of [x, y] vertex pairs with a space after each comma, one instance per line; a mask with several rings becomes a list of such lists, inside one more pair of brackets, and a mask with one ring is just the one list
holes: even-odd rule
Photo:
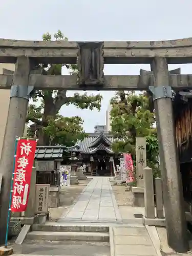
[[[154, 96], [168, 244], [186, 252], [180, 168], [172, 108], [172, 89], [192, 89], [192, 75], [169, 74], [168, 64], [192, 62], [192, 38], [170, 41], [24, 41], [0, 39], [0, 63], [16, 63], [15, 74], [0, 75], [0, 89], [11, 89], [0, 173], [3, 188], [0, 209], [0, 244], [5, 241], [14, 141], [25, 127], [30, 92], [41, 90], [147, 90]], [[37, 75], [38, 63], [78, 65], [78, 76]], [[153, 75], [104, 76], [106, 64], [150, 63]]]

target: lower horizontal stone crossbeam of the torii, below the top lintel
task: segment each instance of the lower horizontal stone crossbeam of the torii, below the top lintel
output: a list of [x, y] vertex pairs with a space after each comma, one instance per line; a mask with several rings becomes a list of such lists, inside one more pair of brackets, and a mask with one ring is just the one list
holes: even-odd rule
[[[0, 89], [11, 89], [14, 75], [0, 75]], [[169, 84], [174, 91], [191, 90], [192, 74], [170, 74]], [[153, 75], [116, 75], [104, 76], [102, 87], [95, 85], [81, 86], [77, 84], [77, 76], [73, 75], [29, 75], [28, 86], [36, 90], [68, 90], [68, 91], [145, 91], [154, 85]]]

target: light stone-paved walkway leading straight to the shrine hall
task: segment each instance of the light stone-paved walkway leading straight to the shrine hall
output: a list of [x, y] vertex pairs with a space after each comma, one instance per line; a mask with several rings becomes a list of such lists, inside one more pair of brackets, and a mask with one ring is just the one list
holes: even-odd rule
[[109, 178], [93, 178], [75, 205], [59, 221], [121, 222]]

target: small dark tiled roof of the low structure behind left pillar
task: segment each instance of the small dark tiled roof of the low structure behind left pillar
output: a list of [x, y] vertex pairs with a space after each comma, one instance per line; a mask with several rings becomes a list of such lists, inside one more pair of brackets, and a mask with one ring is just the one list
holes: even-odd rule
[[64, 150], [67, 150], [66, 146], [37, 146], [35, 159], [62, 159]]

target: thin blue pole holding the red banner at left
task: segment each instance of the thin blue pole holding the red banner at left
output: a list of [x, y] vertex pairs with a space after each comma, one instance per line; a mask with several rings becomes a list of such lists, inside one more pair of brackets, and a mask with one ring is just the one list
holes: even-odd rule
[[20, 137], [16, 137], [16, 140], [15, 140], [15, 154], [14, 154], [14, 161], [13, 161], [13, 173], [12, 173], [12, 179], [11, 179], [11, 191], [10, 191], [10, 198], [9, 198], [9, 210], [8, 210], [8, 216], [7, 216], [7, 229], [6, 229], [6, 238], [5, 238], [5, 248], [7, 248], [7, 243], [8, 243], [9, 218], [10, 218], [10, 212], [11, 212], [13, 180], [14, 180], [14, 171], [15, 171], [15, 159], [16, 159], [16, 151], [17, 151], [17, 141], [19, 139], [20, 139]]

